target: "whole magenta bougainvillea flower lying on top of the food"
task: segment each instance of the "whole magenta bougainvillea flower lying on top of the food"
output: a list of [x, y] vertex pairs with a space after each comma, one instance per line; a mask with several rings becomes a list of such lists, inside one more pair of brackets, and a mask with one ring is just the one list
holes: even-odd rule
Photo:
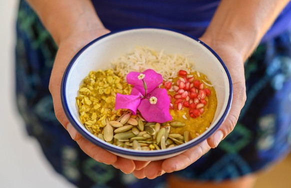
[[163, 123], [170, 121], [170, 100], [167, 91], [157, 88], [162, 83], [162, 77], [154, 70], [147, 69], [142, 73], [130, 72], [126, 80], [134, 87], [130, 95], [117, 93], [115, 109], [129, 109], [132, 114], [138, 110], [148, 122]]

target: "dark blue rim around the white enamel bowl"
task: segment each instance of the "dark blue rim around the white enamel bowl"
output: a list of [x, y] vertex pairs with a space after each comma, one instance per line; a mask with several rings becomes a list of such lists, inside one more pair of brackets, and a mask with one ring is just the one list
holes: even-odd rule
[[[197, 140], [195, 140], [192, 143], [189, 143], [187, 145], [184, 145], [183, 147], [174, 147], [171, 148], [171, 150], [158, 150], [156, 152], [137, 152], [135, 150], [122, 150], [121, 148], [118, 149], [117, 146], [110, 146], [110, 144], [106, 145], [103, 144], [102, 142], [97, 141], [96, 139], [92, 138], [94, 137], [93, 135], [89, 135], [87, 134], [84, 130], [82, 130], [77, 122], [74, 121], [72, 115], [69, 113], [69, 109], [67, 106], [67, 99], [65, 98], [65, 83], [68, 77], [68, 74], [70, 72], [70, 69], [72, 67], [72, 65], [74, 64], [75, 60], [79, 57], [79, 55], [86, 50], [89, 46], [91, 46], [93, 43], [97, 42], [98, 40], [107, 37], [109, 35], [115, 34], [115, 33], [119, 33], [119, 32], [123, 32], [123, 31], [128, 31], [128, 30], [139, 30], [139, 29], [159, 29], [159, 30], [167, 30], [167, 31], [173, 31], [185, 36], [190, 37], [191, 39], [197, 41], [198, 43], [202, 44], [203, 46], [205, 46], [220, 62], [220, 64], [222, 65], [222, 67], [224, 68], [224, 71], [227, 75], [228, 78], [228, 84], [229, 84], [229, 96], [228, 96], [228, 101], [227, 101], [227, 105], [225, 108], [225, 111], [223, 113], [223, 115], [221, 116], [221, 118], [217, 121], [216, 125], [214, 125], [212, 127], [211, 130], [209, 130], [205, 135], [201, 136], [200, 138], [198, 138]], [[204, 141], [206, 138], [208, 138], [210, 135], [212, 135], [218, 128], [219, 126], [223, 123], [224, 119], [226, 118], [229, 110], [230, 110], [230, 105], [232, 102], [232, 81], [231, 81], [231, 77], [230, 74], [225, 66], [225, 64], [223, 63], [223, 61], [221, 60], [221, 58], [216, 54], [216, 52], [214, 52], [214, 50], [212, 50], [209, 46], [207, 46], [204, 42], [202, 42], [201, 40], [199, 40], [198, 38], [191, 36], [187, 33], [184, 33], [182, 31], [179, 30], [175, 30], [175, 29], [171, 29], [171, 28], [163, 28], [163, 27], [130, 27], [130, 28], [126, 28], [126, 29], [120, 29], [120, 30], [116, 30], [116, 31], [112, 31], [110, 33], [107, 33], [105, 35], [102, 35], [94, 40], [92, 40], [91, 42], [89, 42], [88, 44], [86, 44], [82, 49], [80, 49], [75, 55], [74, 57], [71, 59], [71, 61], [69, 62], [68, 66], [65, 69], [65, 72], [63, 74], [62, 80], [61, 80], [61, 87], [60, 87], [60, 96], [61, 96], [61, 104], [64, 110], [64, 113], [66, 115], [66, 117], [68, 118], [69, 122], [72, 124], [72, 126], [77, 130], [77, 132], [83, 136], [85, 139], [87, 139], [88, 141], [90, 141], [91, 143], [114, 153], [118, 153], [118, 154], [122, 154], [122, 155], [127, 155], [127, 156], [135, 156], [135, 157], [158, 157], [158, 156], [163, 156], [163, 155], [170, 155], [170, 154], [174, 154], [174, 153], [178, 153], [178, 152], [182, 152], [185, 151], [197, 144], [199, 144], [200, 142]]]

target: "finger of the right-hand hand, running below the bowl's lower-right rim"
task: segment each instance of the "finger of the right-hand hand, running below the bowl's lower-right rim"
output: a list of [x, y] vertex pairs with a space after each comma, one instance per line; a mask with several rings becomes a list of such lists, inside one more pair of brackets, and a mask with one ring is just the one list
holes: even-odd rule
[[197, 161], [209, 150], [210, 147], [205, 140], [177, 156], [164, 160], [161, 167], [166, 173], [182, 170]]

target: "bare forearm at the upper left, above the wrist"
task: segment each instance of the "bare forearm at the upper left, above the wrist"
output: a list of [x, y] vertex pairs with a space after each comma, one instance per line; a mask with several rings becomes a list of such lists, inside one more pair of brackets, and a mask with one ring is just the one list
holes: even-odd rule
[[103, 27], [90, 0], [27, 0], [57, 44], [72, 32]]

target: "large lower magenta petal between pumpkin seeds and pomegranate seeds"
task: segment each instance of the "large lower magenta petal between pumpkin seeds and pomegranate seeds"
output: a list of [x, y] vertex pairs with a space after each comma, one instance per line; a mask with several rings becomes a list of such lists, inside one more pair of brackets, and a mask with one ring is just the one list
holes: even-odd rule
[[146, 97], [156, 97], [156, 104], [150, 104], [148, 99], [141, 99], [138, 110], [142, 117], [148, 122], [163, 123], [172, 120], [169, 114], [170, 99], [165, 89], [155, 88]]

